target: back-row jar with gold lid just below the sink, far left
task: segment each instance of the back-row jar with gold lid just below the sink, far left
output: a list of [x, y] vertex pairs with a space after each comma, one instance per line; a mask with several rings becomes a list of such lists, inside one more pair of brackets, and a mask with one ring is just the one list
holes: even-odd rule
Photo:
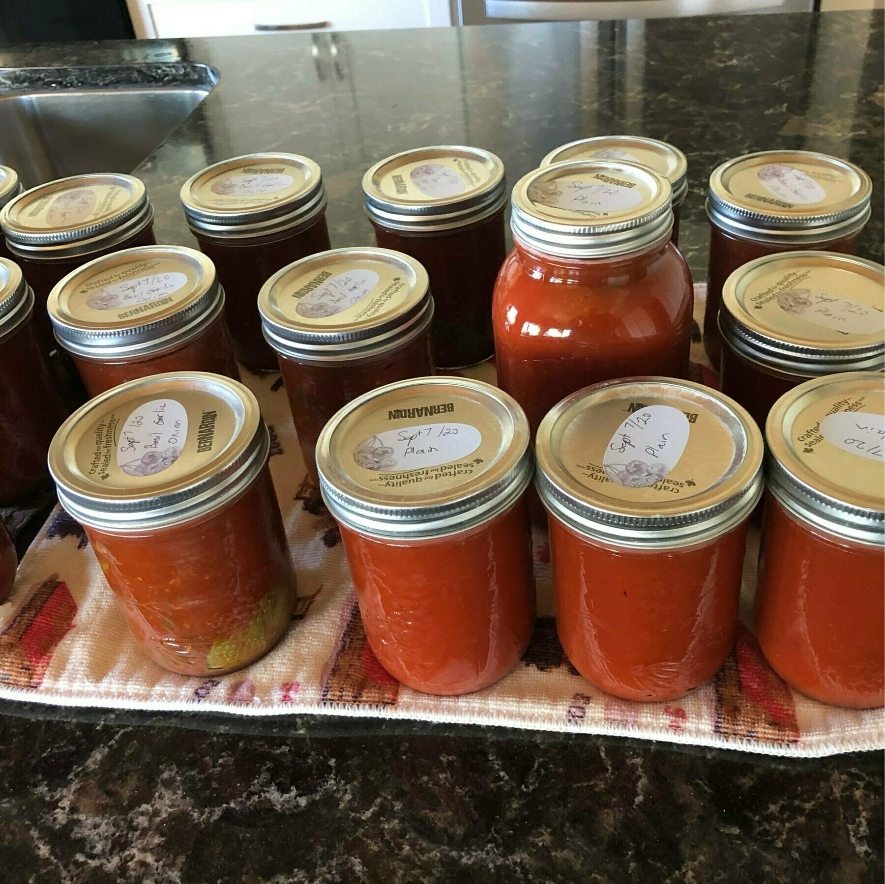
[[153, 245], [153, 222], [154, 210], [142, 182], [116, 173], [50, 181], [4, 207], [0, 227], [34, 289], [37, 322], [50, 345], [46, 300], [52, 288], [93, 258]]

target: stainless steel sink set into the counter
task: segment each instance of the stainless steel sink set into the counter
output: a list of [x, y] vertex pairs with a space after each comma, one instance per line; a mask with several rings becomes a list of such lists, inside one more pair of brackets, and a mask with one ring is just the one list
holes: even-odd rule
[[32, 188], [132, 172], [218, 82], [207, 65], [0, 68], [0, 164]]

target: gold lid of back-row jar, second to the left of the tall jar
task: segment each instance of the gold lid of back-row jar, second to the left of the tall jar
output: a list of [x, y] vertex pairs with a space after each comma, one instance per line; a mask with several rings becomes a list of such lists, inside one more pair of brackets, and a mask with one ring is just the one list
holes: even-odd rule
[[252, 153], [223, 160], [181, 187], [189, 226], [222, 239], [307, 226], [326, 207], [319, 165], [296, 153]]

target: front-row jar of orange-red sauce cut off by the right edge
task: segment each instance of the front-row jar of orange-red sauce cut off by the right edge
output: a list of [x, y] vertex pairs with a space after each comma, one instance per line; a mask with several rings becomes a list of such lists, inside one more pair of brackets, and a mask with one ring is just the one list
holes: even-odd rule
[[766, 439], [756, 633], [774, 671], [822, 703], [885, 702], [885, 381], [806, 381]]

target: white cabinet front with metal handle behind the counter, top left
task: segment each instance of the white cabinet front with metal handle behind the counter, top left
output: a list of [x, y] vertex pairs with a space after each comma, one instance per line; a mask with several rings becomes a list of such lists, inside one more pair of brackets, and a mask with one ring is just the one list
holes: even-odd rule
[[214, 37], [451, 24], [450, 0], [127, 0], [136, 37]]

